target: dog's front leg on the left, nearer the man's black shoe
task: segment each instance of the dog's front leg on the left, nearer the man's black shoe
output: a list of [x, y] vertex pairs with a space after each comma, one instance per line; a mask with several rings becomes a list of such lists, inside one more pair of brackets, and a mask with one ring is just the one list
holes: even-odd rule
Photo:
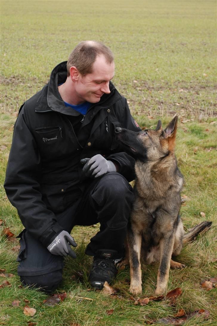
[[129, 291], [133, 294], [142, 292], [142, 271], [140, 264], [140, 252], [142, 235], [132, 226], [128, 227], [127, 233], [128, 247], [129, 247], [129, 265], [130, 265], [130, 287]]

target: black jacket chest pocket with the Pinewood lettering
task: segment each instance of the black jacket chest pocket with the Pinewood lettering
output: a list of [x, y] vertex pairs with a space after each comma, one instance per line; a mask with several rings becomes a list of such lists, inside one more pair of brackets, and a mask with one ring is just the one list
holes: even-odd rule
[[39, 151], [44, 158], [60, 157], [66, 150], [64, 130], [61, 126], [36, 129], [35, 137]]

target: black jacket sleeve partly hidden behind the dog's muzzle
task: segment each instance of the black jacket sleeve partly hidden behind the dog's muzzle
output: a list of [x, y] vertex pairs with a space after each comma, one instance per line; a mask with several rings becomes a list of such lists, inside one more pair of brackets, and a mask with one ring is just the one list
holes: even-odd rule
[[[127, 100], [124, 97], [122, 97], [122, 99], [119, 101], [117, 118], [121, 128], [130, 129], [136, 132], [141, 131], [140, 127], [130, 114]], [[118, 162], [120, 166], [120, 170], [118, 172], [122, 174], [129, 182], [135, 179], [135, 159], [131, 155], [127, 154], [126, 152], [118, 151], [117, 153], [109, 155], [107, 159]]]

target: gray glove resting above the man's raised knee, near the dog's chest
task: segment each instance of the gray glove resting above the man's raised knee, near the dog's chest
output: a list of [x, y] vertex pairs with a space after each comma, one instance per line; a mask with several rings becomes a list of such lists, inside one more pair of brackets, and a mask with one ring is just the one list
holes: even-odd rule
[[81, 163], [85, 163], [83, 172], [87, 177], [101, 177], [107, 172], [116, 172], [115, 164], [107, 161], [102, 155], [97, 154], [91, 158], [83, 158]]

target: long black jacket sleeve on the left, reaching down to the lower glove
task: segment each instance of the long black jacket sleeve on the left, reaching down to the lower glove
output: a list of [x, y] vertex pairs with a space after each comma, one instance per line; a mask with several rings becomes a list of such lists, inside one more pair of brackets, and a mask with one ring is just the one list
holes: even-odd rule
[[41, 159], [25, 109], [24, 104], [14, 126], [4, 187], [24, 227], [47, 246], [63, 228], [42, 201], [38, 183]]

